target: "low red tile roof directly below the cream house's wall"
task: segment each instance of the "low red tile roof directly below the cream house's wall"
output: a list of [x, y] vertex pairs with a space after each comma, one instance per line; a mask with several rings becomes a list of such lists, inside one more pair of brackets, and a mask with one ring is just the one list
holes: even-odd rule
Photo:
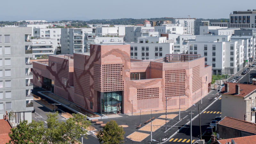
[[240, 130], [243, 132], [249, 132], [252, 134], [256, 134], [256, 124], [240, 120], [233, 117], [225, 116], [220, 122], [219, 125], [230, 127], [236, 130]]

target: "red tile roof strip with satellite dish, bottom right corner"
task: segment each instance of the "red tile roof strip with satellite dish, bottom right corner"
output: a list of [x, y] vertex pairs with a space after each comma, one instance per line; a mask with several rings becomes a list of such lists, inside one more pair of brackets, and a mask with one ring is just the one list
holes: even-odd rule
[[226, 142], [229, 142], [229, 141], [231, 142], [231, 140], [234, 140], [236, 144], [255, 144], [256, 135], [232, 138], [232, 139], [217, 140], [217, 141], [220, 144], [225, 144]]

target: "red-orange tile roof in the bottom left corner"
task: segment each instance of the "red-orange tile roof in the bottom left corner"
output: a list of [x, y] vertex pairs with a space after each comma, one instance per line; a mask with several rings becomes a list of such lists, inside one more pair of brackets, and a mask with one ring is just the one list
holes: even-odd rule
[[8, 121], [0, 119], [0, 144], [6, 144], [11, 140], [8, 133], [11, 132], [11, 125]]

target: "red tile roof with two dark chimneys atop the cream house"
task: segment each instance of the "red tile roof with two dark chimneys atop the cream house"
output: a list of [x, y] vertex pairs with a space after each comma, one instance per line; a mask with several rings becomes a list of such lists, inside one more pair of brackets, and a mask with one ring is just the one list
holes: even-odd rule
[[235, 94], [236, 93], [236, 83], [228, 83], [229, 85], [229, 91], [225, 92], [225, 85], [224, 87], [220, 90], [221, 93], [225, 93], [225, 94], [230, 94], [230, 95], [236, 95], [236, 96], [240, 96], [240, 97], [245, 97], [248, 94], [256, 91], [256, 85], [251, 85], [251, 84], [239, 84], [240, 87], [240, 93], [239, 94]]

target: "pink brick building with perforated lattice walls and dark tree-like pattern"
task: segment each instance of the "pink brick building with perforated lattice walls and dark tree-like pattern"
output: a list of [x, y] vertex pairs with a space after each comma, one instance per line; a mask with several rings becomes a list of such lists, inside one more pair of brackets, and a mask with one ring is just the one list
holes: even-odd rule
[[92, 112], [116, 114], [164, 110], [166, 99], [167, 109], [189, 108], [209, 92], [212, 67], [200, 55], [137, 60], [129, 44], [96, 44], [90, 53], [34, 61], [33, 74], [39, 87]]

